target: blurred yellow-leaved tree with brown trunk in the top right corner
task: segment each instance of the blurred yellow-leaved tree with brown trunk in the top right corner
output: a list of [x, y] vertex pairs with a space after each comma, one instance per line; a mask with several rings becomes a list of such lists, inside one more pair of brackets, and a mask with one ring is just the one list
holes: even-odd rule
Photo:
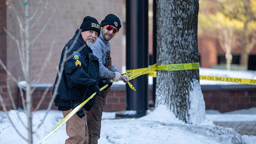
[[256, 0], [218, 0], [218, 10], [242, 22], [240, 64], [248, 69], [249, 54], [256, 45]]

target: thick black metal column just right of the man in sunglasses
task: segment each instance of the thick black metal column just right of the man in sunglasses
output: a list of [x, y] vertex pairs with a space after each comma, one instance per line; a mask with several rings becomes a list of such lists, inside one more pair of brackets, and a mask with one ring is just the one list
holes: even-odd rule
[[[148, 67], [148, 0], [126, 0], [126, 69], [144, 67]], [[148, 110], [148, 76], [130, 82], [136, 91], [126, 85], [126, 110], [136, 113], [126, 117], [144, 116]]]

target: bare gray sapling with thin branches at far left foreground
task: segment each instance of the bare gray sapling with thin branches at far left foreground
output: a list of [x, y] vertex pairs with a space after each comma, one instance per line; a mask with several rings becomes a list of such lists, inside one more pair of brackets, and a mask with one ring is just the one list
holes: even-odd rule
[[[53, 40], [52, 46], [50, 48], [50, 52], [41, 65], [40, 72], [33, 79], [31, 76], [31, 69], [30, 69], [31, 68], [30, 52], [31, 52], [31, 48], [33, 47], [33, 44], [36, 42], [36, 40], [38, 40], [40, 35], [44, 32], [44, 30], [46, 29], [46, 27], [48, 26], [48, 24], [52, 18], [52, 15], [56, 12], [56, 10], [54, 9], [51, 12], [51, 14], [48, 16], [48, 19], [45, 22], [44, 26], [40, 29], [40, 32], [36, 36], [31, 37], [30, 31], [32, 30], [32, 28], [34, 28], [34, 26], [37, 24], [37, 22], [41, 20], [42, 15], [44, 14], [44, 11], [46, 10], [46, 7], [48, 5], [48, 1], [43, 2], [43, 0], [38, 0], [35, 10], [34, 10], [34, 12], [32, 12], [32, 14], [30, 14], [30, 10], [29, 10], [30, 4], [29, 4], [28, 0], [19, 0], [19, 1], [6, 0], [6, 5], [8, 6], [8, 8], [11, 8], [13, 10], [14, 16], [16, 17], [16, 19], [18, 21], [20, 33], [19, 33], [19, 36], [15, 36], [5, 27], [3, 27], [3, 29], [10, 36], [10, 38], [12, 38], [12, 40], [14, 40], [14, 42], [16, 43], [16, 47], [18, 49], [18, 54], [19, 54], [19, 60], [20, 60], [21, 68], [22, 68], [22, 74], [23, 74], [22, 78], [24, 78], [24, 80], [26, 81], [26, 86], [20, 85], [20, 83], [19, 83], [20, 80], [18, 80], [17, 78], [14, 77], [14, 75], [8, 70], [7, 66], [2, 62], [2, 60], [0, 60], [0, 64], [4, 68], [4, 70], [6, 70], [6, 73], [8, 74], [7, 88], [8, 88], [10, 100], [12, 102], [12, 106], [14, 107], [15, 110], [17, 108], [16, 108], [16, 106], [14, 104], [14, 100], [12, 98], [12, 92], [10, 90], [10, 85], [9, 85], [9, 81], [10, 81], [9, 79], [11, 78], [14, 82], [16, 82], [16, 84], [18, 85], [18, 87], [20, 89], [22, 105], [23, 105], [25, 113], [27, 115], [28, 123], [24, 124], [24, 122], [20, 119], [18, 112], [17, 112], [17, 115], [18, 115], [18, 118], [20, 119], [22, 125], [28, 130], [28, 136], [24, 136], [24, 134], [21, 134], [19, 132], [19, 130], [16, 128], [16, 126], [14, 126], [10, 116], [8, 115], [8, 112], [7, 112], [7, 109], [6, 109], [6, 106], [4, 104], [4, 100], [1, 96], [1, 94], [0, 94], [0, 102], [1, 102], [1, 105], [4, 109], [4, 111], [7, 114], [8, 119], [10, 120], [10, 123], [12, 124], [12, 126], [14, 127], [16, 132], [21, 136], [21, 138], [23, 138], [24, 140], [26, 140], [28, 143], [31, 144], [31, 143], [33, 143], [33, 133], [34, 133], [32, 130], [32, 93], [35, 90], [35, 88], [32, 88], [31, 85], [37, 84], [40, 81], [40, 78], [42, 77], [42, 73], [46, 69], [46, 66], [49, 63], [50, 58], [52, 56], [52, 52], [53, 52], [52, 49], [54, 47], [55, 40]], [[40, 7], [43, 7], [43, 9], [42, 9], [42, 11], [40, 11], [40, 14], [39, 14]], [[23, 90], [26, 92], [26, 100], [23, 95]], [[44, 98], [44, 96], [48, 90], [49, 90], [49, 88], [46, 88], [46, 90], [44, 91], [44, 94], [42, 95], [42, 98]], [[40, 104], [41, 103], [39, 102], [39, 104], [36, 106], [36, 108], [38, 108], [40, 106]]]

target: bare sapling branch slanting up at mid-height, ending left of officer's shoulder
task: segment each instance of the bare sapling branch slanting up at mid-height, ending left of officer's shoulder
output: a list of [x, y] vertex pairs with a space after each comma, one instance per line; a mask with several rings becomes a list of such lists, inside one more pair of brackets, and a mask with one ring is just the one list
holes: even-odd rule
[[[47, 58], [44, 60], [44, 63], [42, 64], [38, 74], [36, 75], [36, 77], [34, 78], [34, 80], [32, 80], [32, 84], [38, 84], [42, 78], [42, 75], [44, 73], [44, 70], [46, 69], [46, 66], [49, 64], [50, 62], [50, 59], [52, 57], [52, 52], [53, 52], [53, 48], [54, 48], [54, 45], [55, 45], [55, 40], [52, 42], [52, 46], [50, 48], [50, 52], [47, 56]], [[31, 90], [31, 94], [34, 92], [34, 90], [36, 89], [36, 87], [34, 87], [32, 90]]]

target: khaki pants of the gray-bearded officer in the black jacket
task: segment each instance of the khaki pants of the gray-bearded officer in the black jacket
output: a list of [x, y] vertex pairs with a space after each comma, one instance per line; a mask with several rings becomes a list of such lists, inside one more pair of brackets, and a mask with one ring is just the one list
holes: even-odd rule
[[[84, 112], [85, 109], [83, 108]], [[62, 111], [63, 116], [68, 115], [72, 109]], [[88, 126], [86, 116], [79, 118], [74, 114], [66, 122], [66, 133], [69, 138], [66, 139], [65, 144], [88, 144]]]

